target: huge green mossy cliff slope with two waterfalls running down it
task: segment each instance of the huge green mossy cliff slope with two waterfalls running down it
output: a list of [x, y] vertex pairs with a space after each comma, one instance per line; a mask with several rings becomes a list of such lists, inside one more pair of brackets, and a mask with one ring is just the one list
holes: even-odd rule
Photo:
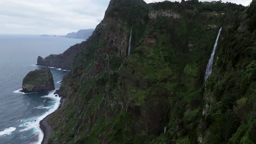
[[62, 82], [49, 143], [255, 143], [254, 16], [255, 3], [110, 1]]

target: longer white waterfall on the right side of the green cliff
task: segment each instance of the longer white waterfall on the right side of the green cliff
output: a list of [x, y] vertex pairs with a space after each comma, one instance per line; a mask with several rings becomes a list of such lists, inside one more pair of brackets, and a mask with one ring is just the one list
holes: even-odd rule
[[219, 40], [220, 32], [222, 32], [222, 27], [220, 27], [220, 29], [219, 29], [219, 33], [218, 33], [217, 39], [216, 39], [216, 41], [215, 41], [215, 44], [214, 44], [214, 47], [213, 47], [213, 50], [212, 50], [211, 58], [209, 59], [209, 62], [208, 62], [207, 67], [206, 67], [206, 71], [205, 71], [205, 81], [207, 80], [207, 78], [208, 78], [208, 77], [211, 75], [211, 73], [212, 73], [213, 58], [214, 58], [215, 51], [216, 51], [216, 48], [217, 48], [217, 45], [218, 45], [218, 40]]

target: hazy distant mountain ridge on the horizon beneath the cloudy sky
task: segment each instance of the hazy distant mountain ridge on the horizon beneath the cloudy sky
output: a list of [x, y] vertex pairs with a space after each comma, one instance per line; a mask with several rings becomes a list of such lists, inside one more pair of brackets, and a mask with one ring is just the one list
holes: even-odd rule
[[94, 29], [80, 29], [77, 32], [68, 33], [67, 35], [55, 35], [55, 34], [43, 34], [41, 37], [62, 37], [62, 38], [72, 38], [72, 39], [88, 39]]

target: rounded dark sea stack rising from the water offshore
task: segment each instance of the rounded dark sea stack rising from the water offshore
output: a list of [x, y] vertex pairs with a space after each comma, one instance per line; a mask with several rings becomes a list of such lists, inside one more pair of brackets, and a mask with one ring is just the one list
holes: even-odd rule
[[30, 71], [23, 79], [22, 92], [47, 92], [55, 89], [53, 74], [48, 67]]

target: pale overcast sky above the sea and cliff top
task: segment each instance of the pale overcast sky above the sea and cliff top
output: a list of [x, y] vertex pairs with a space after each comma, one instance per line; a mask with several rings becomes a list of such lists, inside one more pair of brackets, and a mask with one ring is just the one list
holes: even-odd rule
[[[145, 0], [147, 3], [153, 1], [164, 0]], [[227, 1], [242, 5], [251, 2], [222, 0]], [[0, 34], [65, 35], [95, 28], [103, 19], [108, 4], [109, 0], [0, 0]]]

